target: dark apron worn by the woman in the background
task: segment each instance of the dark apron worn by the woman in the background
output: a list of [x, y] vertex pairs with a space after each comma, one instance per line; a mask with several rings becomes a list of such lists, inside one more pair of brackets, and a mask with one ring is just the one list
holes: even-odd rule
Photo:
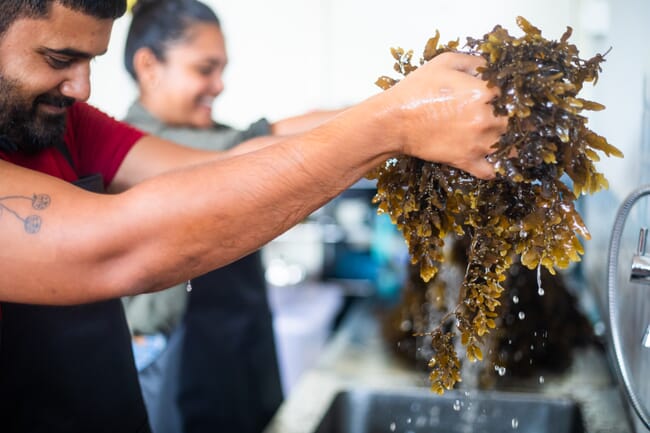
[[185, 433], [259, 433], [282, 403], [259, 252], [192, 280], [178, 404]]

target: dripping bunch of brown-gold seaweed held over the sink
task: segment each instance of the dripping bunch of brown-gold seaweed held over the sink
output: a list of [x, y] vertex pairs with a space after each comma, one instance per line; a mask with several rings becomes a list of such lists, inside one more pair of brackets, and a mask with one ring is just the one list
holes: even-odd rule
[[[496, 177], [482, 180], [447, 165], [400, 156], [368, 173], [376, 179], [373, 202], [390, 215], [404, 236], [411, 261], [429, 281], [444, 262], [450, 235], [470, 240], [468, 265], [460, 299], [429, 334], [434, 356], [429, 361], [431, 387], [437, 393], [461, 380], [453, 339], [460, 334], [470, 361], [483, 359], [481, 346], [496, 327], [497, 308], [507, 270], [515, 258], [529, 269], [555, 274], [580, 260], [579, 236], [590, 234], [576, 211], [582, 194], [607, 188], [595, 163], [599, 153], [622, 157], [607, 140], [587, 127], [584, 110], [605, 107], [578, 97], [583, 85], [595, 84], [604, 55], [579, 57], [569, 43], [571, 28], [560, 40], [548, 40], [522, 17], [521, 37], [497, 25], [480, 39], [439, 44], [436, 32], [426, 44], [420, 65], [445, 52], [482, 56], [478, 72], [489, 86], [500, 89], [492, 101], [494, 113], [508, 117], [508, 127], [489, 160]], [[413, 51], [391, 50], [395, 71], [403, 76], [417, 69]], [[380, 77], [387, 89], [399, 79]], [[452, 320], [455, 328], [443, 323]]]

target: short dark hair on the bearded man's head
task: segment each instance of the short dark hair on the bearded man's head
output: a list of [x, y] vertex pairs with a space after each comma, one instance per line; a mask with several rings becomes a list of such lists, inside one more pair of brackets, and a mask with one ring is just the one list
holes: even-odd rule
[[117, 19], [126, 11], [126, 0], [0, 0], [0, 37], [20, 18], [45, 18], [52, 3], [100, 19]]

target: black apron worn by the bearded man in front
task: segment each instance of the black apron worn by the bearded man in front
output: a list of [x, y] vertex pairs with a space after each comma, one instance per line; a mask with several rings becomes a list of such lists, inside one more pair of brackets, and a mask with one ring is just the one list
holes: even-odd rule
[[[75, 183], [103, 191], [99, 175]], [[0, 432], [151, 431], [119, 299], [0, 308]]]

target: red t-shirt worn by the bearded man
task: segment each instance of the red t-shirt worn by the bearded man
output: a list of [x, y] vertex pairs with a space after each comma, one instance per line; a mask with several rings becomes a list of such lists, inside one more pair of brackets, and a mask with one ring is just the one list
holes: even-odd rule
[[0, 151], [0, 159], [68, 182], [101, 173], [104, 186], [108, 186], [126, 154], [143, 135], [138, 129], [86, 103], [77, 102], [68, 110], [64, 138], [76, 173], [66, 157], [54, 147], [34, 156]]

